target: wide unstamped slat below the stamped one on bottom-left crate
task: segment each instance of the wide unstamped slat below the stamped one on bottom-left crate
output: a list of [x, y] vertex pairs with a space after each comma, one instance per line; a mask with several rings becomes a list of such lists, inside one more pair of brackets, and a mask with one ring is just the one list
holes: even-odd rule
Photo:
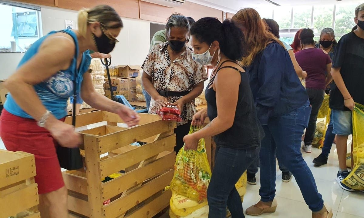
[[[19, 199], [23, 200], [19, 201]], [[0, 202], [0, 213], [2, 217], [11, 217], [20, 211], [36, 206], [39, 204], [37, 184], [33, 183], [25, 189], [2, 196], [0, 197]]]

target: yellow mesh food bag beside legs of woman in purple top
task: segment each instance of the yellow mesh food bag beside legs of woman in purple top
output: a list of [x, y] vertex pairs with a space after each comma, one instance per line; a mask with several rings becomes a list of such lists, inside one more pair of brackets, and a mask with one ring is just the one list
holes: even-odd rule
[[325, 134], [327, 125], [330, 122], [331, 109], [329, 107], [329, 95], [325, 95], [320, 110], [318, 110], [317, 119], [326, 118], [325, 121], [320, 121], [316, 125], [316, 132], [313, 138], [312, 145], [321, 149], [324, 146]]

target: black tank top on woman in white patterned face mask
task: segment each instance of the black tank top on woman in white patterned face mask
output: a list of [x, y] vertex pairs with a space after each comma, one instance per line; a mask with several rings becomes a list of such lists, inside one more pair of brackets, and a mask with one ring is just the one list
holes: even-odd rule
[[[209, 116], [211, 121], [217, 117], [216, 92], [212, 88], [212, 84], [219, 70], [223, 68], [232, 68], [235, 69], [237, 73], [240, 73], [241, 82], [239, 85], [238, 104], [236, 106], [233, 126], [225, 132], [214, 136], [214, 141], [217, 146], [234, 149], [256, 147], [260, 145], [260, 142], [264, 137], [264, 131], [257, 118], [253, 94], [249, 86], [248, 75], [233, 66], [221, 67], [225, 62], [234, 61], [227, 60], [222, 62], [215, 75], [211, 77], [210, 83], [205, 90], [207, 116]], [[237, 64], [236, 62], [234, 63]], [[226, 88], [228, 89], [229, 87]]]

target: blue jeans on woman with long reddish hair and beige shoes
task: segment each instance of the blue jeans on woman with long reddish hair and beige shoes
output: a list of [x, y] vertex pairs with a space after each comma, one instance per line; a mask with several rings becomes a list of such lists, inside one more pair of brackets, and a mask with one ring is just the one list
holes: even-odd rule
[[301, 137], [308, 125], [311, 107], [304, 106], [278, 117], [272, 117], [263, 129], [265, 137], [260, 151], [261, 201], [273, 201], [276, 196], [276, 149], [277, 158], [292, 172], [301, 189], [309, 209], [316, 212], [324, 206], [322, 195], [318, 193], [312, 172], [301, 153]]

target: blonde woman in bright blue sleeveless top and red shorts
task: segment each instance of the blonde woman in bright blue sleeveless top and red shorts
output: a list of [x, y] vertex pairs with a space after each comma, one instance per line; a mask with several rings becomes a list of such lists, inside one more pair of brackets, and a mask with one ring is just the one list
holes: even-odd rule
[[81, 143], [80, 134], [63, 122], [74, 89], [87, 104], [118, 114], [129, 126], [139, 121], [133, 110], [95, 92], [85, 73], [91, 60], [89, 49], [100, 53], [114, 49], [123, 27], [120, 16], [107, 5], [83, 9], [78, 27], [78, 31], [54, 31], [36, 41], [5, 82], [10, 94], [1, 113], [0, 136], [8, 150], [35, 155], [39, 210], [46, 218], [68, 216], [56, 146], [75, 148]]

